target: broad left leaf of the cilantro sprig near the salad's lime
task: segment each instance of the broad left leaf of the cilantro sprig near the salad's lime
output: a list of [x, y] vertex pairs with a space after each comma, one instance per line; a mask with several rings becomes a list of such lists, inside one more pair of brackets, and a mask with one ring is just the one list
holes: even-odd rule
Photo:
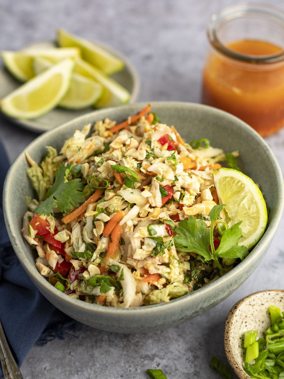
[[189, 217], [179, 222], [175, 228], [174, 242], [179, 251], [193, 252], [201, 255], [205, 260], [211, 260], [209, 251], [210, 229], [206, 229], [203, 221]]

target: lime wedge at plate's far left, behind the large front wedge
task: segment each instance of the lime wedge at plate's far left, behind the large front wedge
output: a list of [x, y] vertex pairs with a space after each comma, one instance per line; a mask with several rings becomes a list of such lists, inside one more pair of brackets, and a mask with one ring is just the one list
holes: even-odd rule
[[1, 55], [10, 73], [20, 81], [27, 81], [34, 77], [33, 59], [35, 56], [57, 63], [71, 56], [80, 56], [80, 50], [75, 48], [26, 49], [19, 52], [2, 51]]

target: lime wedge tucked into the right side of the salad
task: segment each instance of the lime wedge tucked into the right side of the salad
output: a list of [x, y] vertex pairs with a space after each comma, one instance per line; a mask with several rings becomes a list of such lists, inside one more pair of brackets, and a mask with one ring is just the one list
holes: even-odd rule
[[213, 177], [220, 204], [226, 204], [229, 227], [242, 221], [243, 236], [239, 245], [250, 249], [260, 240], [267, 224], [267, 209], [260, 189], [237, 170], [213, 170]]

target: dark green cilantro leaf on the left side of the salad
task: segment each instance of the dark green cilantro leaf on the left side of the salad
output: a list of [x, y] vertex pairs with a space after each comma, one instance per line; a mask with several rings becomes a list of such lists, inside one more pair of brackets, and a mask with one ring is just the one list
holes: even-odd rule
[[35, 210], [39, 216], [49, 216], [53, 212], [53, 208], [57, 205], [61, 212], [69, 213], [74, 207], [78, 207], [79, 203], [84, 201], [83, 189], [84, 185], [81, 179], [73, 179], [65, 182], [66, 174], [72, 168], [72, 163], [61, 164], [55, 172], [55, 182], [48, 188], [47, 199], [42, 202]]

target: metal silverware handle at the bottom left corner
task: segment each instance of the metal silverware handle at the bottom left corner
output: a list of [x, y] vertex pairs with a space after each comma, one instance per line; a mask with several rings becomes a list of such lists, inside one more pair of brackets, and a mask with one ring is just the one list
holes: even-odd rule
[[0, 361], [5, 379], [23, 379], [22, 373], [12, 356], [0, 321]]

